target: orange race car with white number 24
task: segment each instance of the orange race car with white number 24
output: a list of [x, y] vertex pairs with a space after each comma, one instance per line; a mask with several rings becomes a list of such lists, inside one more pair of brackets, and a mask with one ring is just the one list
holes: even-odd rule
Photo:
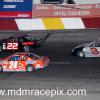
[[48, 66], [49, 58], [34, 53], [15, 53], [0, 59], [0, 72], [32, 72]]

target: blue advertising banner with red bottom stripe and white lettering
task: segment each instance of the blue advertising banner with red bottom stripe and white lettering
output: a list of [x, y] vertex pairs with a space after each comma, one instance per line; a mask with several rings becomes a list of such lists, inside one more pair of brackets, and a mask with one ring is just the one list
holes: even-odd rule
[[0, 18], [32, 18], [32, 0], [0, 0]]

